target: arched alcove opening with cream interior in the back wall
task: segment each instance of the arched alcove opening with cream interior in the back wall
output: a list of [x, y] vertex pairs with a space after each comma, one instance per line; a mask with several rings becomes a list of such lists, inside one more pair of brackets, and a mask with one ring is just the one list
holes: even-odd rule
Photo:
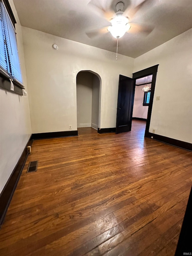
[[76, 76], [77, 128], [100, 128], [101, 77], [93, 71], [80, 71]]

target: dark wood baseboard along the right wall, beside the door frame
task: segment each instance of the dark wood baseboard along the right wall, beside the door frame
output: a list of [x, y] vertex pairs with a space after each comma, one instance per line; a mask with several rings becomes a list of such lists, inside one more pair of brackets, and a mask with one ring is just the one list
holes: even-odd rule
[[148, 137], [148, 138], [153, 137], [154, 140], [158, 140], [158, 141], [164, 142], [166, 144], [176, 146], [176, 147], [181, 148], [181, 149], [186, 149], [186, 150], [192, 151], [192, 143], [189, 143], [189, 142], [172, 139], [172, 138], [169, 138], [169, 137], [165, 137], [165, 136], [162, 136], [162, 135], [151, 133], [147, 130], [145, 131], [145, 137]]

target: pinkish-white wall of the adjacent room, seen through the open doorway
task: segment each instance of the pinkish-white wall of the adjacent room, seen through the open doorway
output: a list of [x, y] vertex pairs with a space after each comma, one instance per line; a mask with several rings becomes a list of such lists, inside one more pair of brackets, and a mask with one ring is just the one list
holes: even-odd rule
[[[151, 85], [148, 84], [151, 88]], [[133, 117], [147, 118], [148, 106], [143, 106], [144, 92], [141, 90], [144, 85], [135, 86], [135, 96], [133, 105]]]

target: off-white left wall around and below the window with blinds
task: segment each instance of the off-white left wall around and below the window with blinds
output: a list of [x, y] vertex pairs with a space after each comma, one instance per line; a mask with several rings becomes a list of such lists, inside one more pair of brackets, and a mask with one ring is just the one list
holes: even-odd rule
[[[16, 18], [16, 38], [24, 86], [27, 90], [22, 29], [12, 0]], [[0, 89], [0, 193], [19, 160], [31, 135], [28, 96], [19, 96]]]

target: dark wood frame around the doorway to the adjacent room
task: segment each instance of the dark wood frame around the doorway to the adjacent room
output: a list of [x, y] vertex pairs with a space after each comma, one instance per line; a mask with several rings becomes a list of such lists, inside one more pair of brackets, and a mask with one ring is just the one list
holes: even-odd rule
[[[152, 106], [153, 106], [153, 98], [154, 98], [154, 92], [155, 92], [155, 82], [156, 82], [156, 77], [157, 77], [158, 66], [159, 66], [159, 64], [157, 64], [155, 66], [152, 66], [150, 68], [145, 68], [143, 70], [140, 70], [140, 71], [137, 71], [137, 72], [133, 73], [134, 88], [136, 86], [136, 80], [138, 78], [153, 75], [152, 76], [152, 83], [151, 83], [151, 95], [150, 95], [149, 107], [148, 107], [148, 112], [147, 112], [145, 137], [149, 137], [149, 135], [150, 135], [149, 126], [150, 126], [150, 122], [151, 122], [151, 114], [152, 114]], [[134, 95], [133, 95], [133, 99], [134, 99]], [[134, 100], [133, 100], [133, 103], [134, 103]], [[132, 115], [133, 115], [133, 113], [132, 113]]]

